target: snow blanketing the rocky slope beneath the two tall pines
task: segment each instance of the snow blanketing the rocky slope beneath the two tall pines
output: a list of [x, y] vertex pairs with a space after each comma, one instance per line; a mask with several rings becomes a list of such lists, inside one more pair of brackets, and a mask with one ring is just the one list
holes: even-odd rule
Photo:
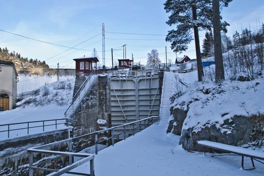
[[[232, 129], [221, 127], [225, 120], [235, 115], [250, 117], [264, 114], [264, 78], [261, 76], [244, 82], [231, 81], [226, 77], [222, 85], [217, 85], [208, 79], [197, 82], [197, 71], [177, 74], [190, 84], [184, 90], [185, 94], [175, 99], [171, 106], [187, 111], [188, 102], [192, 101], [183, 129], [193, 128], [198, 132], [215, 124], [222, 133], [230, 134]], [[203, 93], [206, 90], [210, 93]]]

